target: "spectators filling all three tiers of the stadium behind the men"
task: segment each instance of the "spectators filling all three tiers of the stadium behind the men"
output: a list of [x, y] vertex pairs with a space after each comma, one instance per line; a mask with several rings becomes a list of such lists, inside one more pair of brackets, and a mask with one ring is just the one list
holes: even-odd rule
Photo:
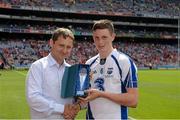
[[[132, 16], [180, 16], [180, 2], [178, 0], [0, 0], [0, 7], [27, 6], [39, 8], [54, 8], [68, 11], [86, 12], [93, 14], [114, 14]], [[18, 7], [17, 7], [18, 8]], [[58, 26], [30, 25], [30, 24], [0, 24], [2, 32], [45, 33], [51, 34]], [[67, 27], [67, 26], [65, 26]], [[90, 35], [89, 28], [71, 27], [75, 35]], [[124, 37], [136, 36], [144, 38], [177, 38], [177, 32], [146, 31], [121, 29], [117, 35]], [[158, 43], [115, 42], [114, 47], [131, 56], [138, 67], [177, 65], [177, 45]], [[92, 41], [77, 41], [72, 55], [67, 61], [70, 64], [84, 63], [97, 54]], [[0, 40], [0, 64], [8, 63], [14, 67], [29, 67], [35, 60], [48, 55], [48, 41], [45, 40]], [[180, 59], [180, 58], [179, 58]]]

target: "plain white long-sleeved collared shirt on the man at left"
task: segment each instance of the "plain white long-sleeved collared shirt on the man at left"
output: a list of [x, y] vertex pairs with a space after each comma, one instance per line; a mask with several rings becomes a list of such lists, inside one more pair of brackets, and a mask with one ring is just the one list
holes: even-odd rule
[[35, 61], [28, 72], [26, 81], [27, 101], [32, 119], [63, 119], [64, 105], [73, 99], [61, 98], [61, 81], [66, 66], [59, 65], [49, 54]]

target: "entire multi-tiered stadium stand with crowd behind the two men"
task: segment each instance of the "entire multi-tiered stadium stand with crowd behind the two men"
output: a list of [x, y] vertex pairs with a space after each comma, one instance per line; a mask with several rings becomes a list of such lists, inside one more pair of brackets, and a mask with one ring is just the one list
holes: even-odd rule
[[131, 56], [139, 68], [178, 67], [177, 0], [1, 0], [0, 53], [5, 68], [28, 68], [49, 52], [48, 40], [58, 27], [76, 37], [70, 64], [97, 54], [94, 20], [111, 19], [114, 47]]

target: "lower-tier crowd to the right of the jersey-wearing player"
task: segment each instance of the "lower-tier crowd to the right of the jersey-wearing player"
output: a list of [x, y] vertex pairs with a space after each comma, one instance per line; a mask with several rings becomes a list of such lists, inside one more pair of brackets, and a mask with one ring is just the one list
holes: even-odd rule
[[117, 49], [131, 56], [138, 67], [175, 66], [178, 61], [176, 45], [158, 43], [121, 43]]

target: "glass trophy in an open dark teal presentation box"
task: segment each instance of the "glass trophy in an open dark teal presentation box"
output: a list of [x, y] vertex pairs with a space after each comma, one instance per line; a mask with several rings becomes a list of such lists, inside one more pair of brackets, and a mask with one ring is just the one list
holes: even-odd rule
[[85, 90], [89, 88], [90, 66], [86, 64], [75, 64], [66, 67], [61, 83], [61, 97], [86, 97]]

